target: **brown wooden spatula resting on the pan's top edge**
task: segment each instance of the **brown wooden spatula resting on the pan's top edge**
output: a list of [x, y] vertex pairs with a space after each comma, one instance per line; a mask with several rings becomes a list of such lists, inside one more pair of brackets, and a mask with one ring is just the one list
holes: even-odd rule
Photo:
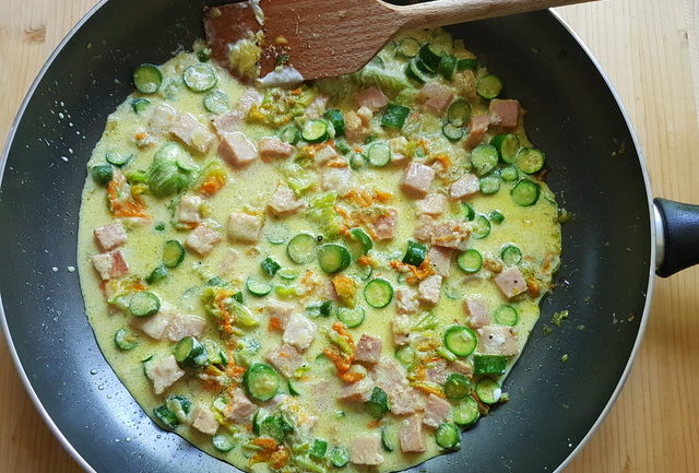
[[226, 64], [229, 45], [262, 31], [260, 76], [288, 58], [310, 80], [357, 71], [401, 31], [584, 1], [591, 0], [435, 0], [410, 7], [379, 0], [259, 0], [209, 8], [204, 26], [217, 61]]

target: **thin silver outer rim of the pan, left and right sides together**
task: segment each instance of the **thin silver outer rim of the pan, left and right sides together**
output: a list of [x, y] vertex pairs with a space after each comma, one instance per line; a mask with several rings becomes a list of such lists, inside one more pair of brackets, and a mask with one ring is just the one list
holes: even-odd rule
[[[51, 52], [49, 58], [46, 60], [46, 63], [40, 69], [39, 73], [37, 74], [36, 79], [34, 80], [34, 82], [29, 86], [24, 99], [22, 100], [22, 105], [20, 106], [20, 109], [17, 110], [17, 114], [16, 114], [16, 116], [15, 116], [13, 122], [12, 122], [12, 126], [10, 127], [10, 131], [8, 133], [5, 145], [4, 145], [4, 150], [2, 152], [2, 156], [0, 157], [0, 182], [2, 182], [2, 177], [4, 175], [4, 167], [5, 167], [5, 164], [7, 164], [7, 161], [8, 161], [8, 155], [10, 153], [10, 145], [11, 145], [13, 139], [14, 139], [14, 134], [15, 134], [17, 125], [19, 125], [20, 120], [22, 119], [22, 117], [24, 115], [24, 111], [26, 109], [26, 106], [27, 106], [31, 97], [33, 96], [34, 92], [36, 91], [36, 87], [38, 86], [39, 82], [44, 78], [44, 75], [45, 75], [46, 71], [48, 70], [48, 68], [52, 64], [52, 62], [56, 59], [56, 57], [58, 56], [58, 54], [63, 49], [66, 44], [83, 26], [83, 24], [90, 20], [90, 17], [97, 10], [99, 10], [105, 3], [107, 3], [107, 1], [109, 1], [109, 0], [100, 0], [90, 11], [87, 11], [87, 13], [85, 13], [85, 15], [68, 32], [66, 37], [58, 44], [58, 46], [56, 46], [56, 48], [54, 49], [54, 51]], [[580, 38], [580, 36], [578, 36], [578, 34], [576, 34], [572, 31], [572, 28], [568, 25], [568, 23], [558, 13], [556, 13], [556, 12], [554, 12], [552, 10], [549, 10], [549, 13], [552, 14], [552, 16], [555, 20], [557, 20], [566, 28], [568, 34], [570, 34], [573, 37], [573, 39], [576, 39], [576, 42], [580, 45], [582, 50], [588, 55], [588, 57], [590, 58], [590, 60], [592, 61], [594, 67], [597, 69], [597, 72], [600, 73], [600, 75], [604, 80], [605, 84], [607, 85], [607, 88], [611, 91], [612, 95], [614, 96], [614, 99], [615, 99], [617, 106], [619, 107], [619, 109], [621, 111], [621, 115], [624, 116], [624, 120], [626, 122], [627, 128], [629, 129], [629, 133], [631, 135], [632, 141], [633, 141], [633, 146], [635, 146], [635, 149], [636, 149], [636, 151], [638, 153], [639, 165], [641, 167], [641, 173], [643, 175], [643, 184], [645, 186], [645, 193], [647, 193], [647, 198], [648, 198], [648, 212], [649, 212], [650, 235], [651, 235], [650, 261], [654, 262], [655, 261], [655, 252], [656, 252], [656, 248], [655, 248], [656, 234], [655, 234], [655, 226], [653, 224], [654, 223], [654, 216], [653, 216], [653, 203], [652, 203], [651, 185], [650, 185], [650, 178], [649, 178], [649, 175], [648, 175], [648, 169], [647, 169], [647, 166], [645, 166], [645, 161], [643, 158], [643, 154], [642, 154], [642, 151], [641, 151], [641, 147], [640, 147], [636, 131], [633, 130], [633, 127], [631, 126], [631, 122], [630, 122], [630, 119], [629, 119], [629, 116], [628, 116], [626, 109], [621, 105], [621, 100], [620, 100], [620, 97], [619, 97], [618, 93], [616, 92], [616, 90], [612, 85], [612, 82], [607, 78], [606, 73], [602, 70], [602, 67], [597, 62], [596, 58], [592, 55], [592, 52], [590, 51], [588, 46], [583, 43], [583, 40]], [[651, 264], [650, 270], [649, 270], [649, 282], [648, 282], [648, 287], [647, 287], [647, 292], [645, 292], [645, 305], [643, 306], [643, 315], [641, 317], [639, 331], [638, 331], [638, 333], [636, 335], [636, 342], [633, 344], [633, 348], [631, 350], [631, 354], [629, 356], [629, 360], [628, 360], [628, 363], [626, 365], [626, 368], [624, 369], [624, 373], [621, 374], [621, 377], [619, 378], [619, 381], [618, 381], [616, 388], [614, 389], [614, 392], [612, 393], [612, 397], [609, 398], [609, 400], [608, 400], [607, 404], [605, 405], [604, 410], [602, 411], [602, 413], [600, 414], [600, 416], [597, 417], [595, 423], [592, 425], [592, 427], [590, 428], [590, 430], [588, 431], [585, 437], [570, 452], [568, 458], [566, 458], [566, 460], [556, 469], [555, 473], [562, 472], [572, 462], [573, 458], [578, 453], [580, 453], [580, 451], [582, 451], [582, 449], [590, 441], [590, 439], [592, 438], [594, 433], [597, 430], [597, 428], [600, 428], [600, 426], [604, 422], [605, 417], [608, 415], [609, 411], [612, 410], [612, 406], [614, 405], [614, 403], [616, 402], [617, 398], [619, 397], [619, 393], [621, 392], [621, 389], [624, 388], [624, 385], [626, 383], [626, 380], [628, 379], [629, 373], [631, 371], [631, 368], [633, 366], [633, 362], [636, 360], [636, 357], [638, 355], [638, 351], [639, 351], [641, 342], [643, 340], [643, 334], [645, 333], [645, 327], [648, 324], [648, 317], [649, 317], [649, 311], [650, 311], [650, 307], [651, 307], [651, 299], [652, 299], [652, 294], [653, 294], [654, 275], [655, 275], [655, 268], [654, 268], [654, 265]], [[32, 388], [29, 379], [28, 379], [26, 373], [24, 371], [24, 367], [22, 366], [22, 363], [20, 362], [20, 358], [19, 358], [17, 353], [16, 353], [16, 350], [14, 348], [14, 343], [12, 341], [12, 335], [10, 334], [10, 330], [9, 330], [9, 327], [8, 327], [8, 320], [7, 320], [7, 317], [5, 317], [5, 314], [4, 314], [4, 306], [2, 304], [2, 296], [1, 295], [0, 295], [0, 323], [2, 324], [2, 332], [3, 332], [5, 341], [7, 341], [8, 351], [10, 352], [10, 355], [12, 356], [12, 360], [13, 360], [13, 363], [14, 363], [16, 369], [17, 369], [17, 375], [20, 376], [20, 379], [22, 380], [22, 383], [24, 385], [24, 388], [26, 389], [26, 392], [29, 395], [29, 399], [34, 403], [34, 406], [36, 407], [36, 410], [38, 411], [39, 415], [42, 416], [42, 418], [44, 419], [44, 422], [48, 426], [49, 430], [51, 430], [54, 436], [62, 445], [62, 447], [66, 449], [66, 451], [68, 451], [68, 453], [73, 458], [73, 460], [75, 460], [75, 462], [84, 471], [90, 472], [90, 473], [97, 473], [81, 457], [81, 454], [78, 452], [78, 450], [75, 450], [75, 448], [63, 436], [63, 434], [60, 431], [58, 426], [54, 423], [52, 418], [48, 415], [46, 409], [42, 404], [42, 401], [38, 399], [38, 397], [36, 395], [36, 392]]]

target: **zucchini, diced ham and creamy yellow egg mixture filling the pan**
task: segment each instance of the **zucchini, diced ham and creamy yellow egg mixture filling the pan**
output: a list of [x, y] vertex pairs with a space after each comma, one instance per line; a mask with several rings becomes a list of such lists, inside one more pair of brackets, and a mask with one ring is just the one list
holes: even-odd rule
[[88, 163], [102, 350], [163, 428], [251, 471], [403, 470], [467, 442], [560, 256], [545, 155], [440, 29], [362, 71], [242, 85], [143, 64]]

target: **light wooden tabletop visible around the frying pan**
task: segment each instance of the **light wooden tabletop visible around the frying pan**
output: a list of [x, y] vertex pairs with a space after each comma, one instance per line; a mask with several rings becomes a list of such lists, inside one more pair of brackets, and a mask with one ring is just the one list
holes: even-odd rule
[[[0, 140], [45, 59], [94, 3], [0, 0]], [[619, 92], [654, 193], [699, 203], [699, 0], [606, 0], [558, 11]], [[626, 388], [567, 471], [699, 472], [698, 347], [699, 270], [694, 269], [657, 281]], [[0, 405], [0, 472], [81, 471], [35, 412], [2, 336]]]

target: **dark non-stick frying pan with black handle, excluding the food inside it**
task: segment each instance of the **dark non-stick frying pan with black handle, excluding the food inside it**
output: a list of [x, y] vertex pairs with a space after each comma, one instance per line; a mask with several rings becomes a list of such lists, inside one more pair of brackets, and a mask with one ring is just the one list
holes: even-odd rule
[[[202, 37], [202, 7], [212, 3], [102, 2], [43, 69], [4, 150], [4, 333], [37, 409], [87, 471], [236, 471], [150, 421], [98, 350], [78, 274], [51, 271], [74, 264], [85, 164], [108, 114], [131, 92], [132, 70], [164, 62]], [[461, 451], [420, 468], [556, 471], [601, 423], [626, 379], [656, 267], [670, 275], [699, 261], [690, 233], [697, 212], [663, 200], [653, 206], [617, 97], [550, 12], [450, 31], [529, 110], [530, 137], [549, 158], [548, 181], [576, 218], [564, 226], [558, 287], [543, 300], [540, 323], [505, 385], [510, 402], [466, 433]], [[544, 335], [542, 324], [560, 309], [574, 321]], [[558, 362], [561, 353], [569, 355], [567, 364]]]

